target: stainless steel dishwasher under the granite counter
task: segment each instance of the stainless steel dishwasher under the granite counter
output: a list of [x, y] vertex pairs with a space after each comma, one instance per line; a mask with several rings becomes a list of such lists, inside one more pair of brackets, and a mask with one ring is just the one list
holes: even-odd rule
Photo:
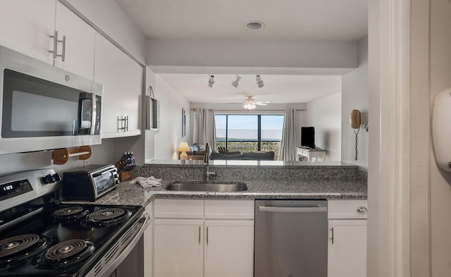
[[254, 277], [326, 277], [326, 200], [256, 200]]

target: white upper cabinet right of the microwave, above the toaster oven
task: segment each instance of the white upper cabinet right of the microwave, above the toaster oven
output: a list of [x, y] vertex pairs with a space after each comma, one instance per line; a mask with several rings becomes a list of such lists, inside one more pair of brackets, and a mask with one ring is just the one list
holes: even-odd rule
[[97, 33], [94, 81], [104, 85], [102, 138], [141, 134], [140, 64]]

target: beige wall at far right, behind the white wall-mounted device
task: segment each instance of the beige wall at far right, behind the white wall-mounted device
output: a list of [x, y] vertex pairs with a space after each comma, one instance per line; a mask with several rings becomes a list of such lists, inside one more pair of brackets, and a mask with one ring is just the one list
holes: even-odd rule
[[[440, 90], [451, 87], [450, 18], [449, 0], [431, 0], [431, 103]], [[451, 128], [451, 124], [444, 128]], [[432, 276], [451, 276], [451, 173], [438, 168], [432, 150], [430, 184]]]

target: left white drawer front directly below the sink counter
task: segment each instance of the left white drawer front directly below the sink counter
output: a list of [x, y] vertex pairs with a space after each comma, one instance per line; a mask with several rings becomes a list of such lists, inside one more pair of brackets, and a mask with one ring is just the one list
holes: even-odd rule
[[155, 218], [204, 218], [204, 200], [155, 199]]

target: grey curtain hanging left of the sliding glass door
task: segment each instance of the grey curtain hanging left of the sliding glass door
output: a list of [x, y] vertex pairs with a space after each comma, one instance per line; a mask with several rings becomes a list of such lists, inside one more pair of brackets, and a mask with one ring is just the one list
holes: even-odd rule
[[210, 149], [216, 151], [216, 124], [213, 109], [197, 109], [194, 125], [194, 142], [210, 144]]

